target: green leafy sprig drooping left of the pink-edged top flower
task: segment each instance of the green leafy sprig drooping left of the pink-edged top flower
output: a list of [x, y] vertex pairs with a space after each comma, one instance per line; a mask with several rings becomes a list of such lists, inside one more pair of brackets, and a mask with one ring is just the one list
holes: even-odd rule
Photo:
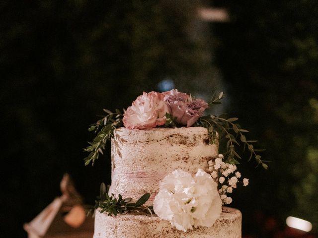
[[94, 131], [97, 135], [92, 142], [88, 142], [90, 145], [84, 148], [85, 152], [90, 152], [84, 158], [85, 165], [89, 165], [90, 163], [94, 165], [99, 154], [103, 154], [106, 142], [114, 137], [114, 129], [123, 126], [123, 114], [118, 109], [116, 109], [115, 113], [107, 109], [104, 109], [104, 112], [107, 115], [88, 128], [88, 131]]

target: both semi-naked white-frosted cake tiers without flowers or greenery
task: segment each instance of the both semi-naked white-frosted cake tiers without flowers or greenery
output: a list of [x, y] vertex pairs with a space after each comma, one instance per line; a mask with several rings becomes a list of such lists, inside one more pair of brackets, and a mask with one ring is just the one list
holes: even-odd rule
[[[118, 128], [112, 139], [112, 183], [109, 195], [131, 197], [136, 201], [151, 194], [152, 205], [159, 182], [176, 169], [194, 175], [208, 172], [208, 161], [218, 155], [218, 143], [209, 143], [204, 127], [126, 129]], [[210, 171], [211, 172], [211, 171]], [[241, 213], [223, 207], [212, 227], [197, 227], [187, 232], [172, 227], [156, 215], [126, 213], [108, 216], [95, 214], [94, 238], [240, 238]]]

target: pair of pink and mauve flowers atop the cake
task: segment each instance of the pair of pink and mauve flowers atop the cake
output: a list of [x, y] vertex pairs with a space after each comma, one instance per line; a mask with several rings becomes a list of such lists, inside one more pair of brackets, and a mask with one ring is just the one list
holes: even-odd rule
[[126, 110], [123, 122], [128, 129], [154, 128], [164, 125], [169, 114], [178, 125], [189, 127], [203, 116], [206, 108], [208, 104], [204, 100], [192, 100], [176, 89], [164, 93], [144, 92]]

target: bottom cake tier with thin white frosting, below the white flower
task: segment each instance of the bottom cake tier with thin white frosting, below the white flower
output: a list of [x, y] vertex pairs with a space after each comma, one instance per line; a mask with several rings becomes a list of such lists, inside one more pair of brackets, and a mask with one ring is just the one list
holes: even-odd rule
[[158, 216], [128, 213], [115, 217], [96, 211], [93, 238], [241, 238], [241, 221], [239, 210], [223, 207], [212, 227], [182, 232]]

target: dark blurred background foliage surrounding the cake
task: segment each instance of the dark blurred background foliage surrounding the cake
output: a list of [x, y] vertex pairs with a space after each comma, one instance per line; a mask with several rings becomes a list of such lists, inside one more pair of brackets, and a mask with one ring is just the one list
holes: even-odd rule
[[205, 99], [224, 90], [212, 113], [239, 117], [267, 149], [268, 171], [244, 159], [239, 168], [250, 179], [234, 194], [243, 234], [274, 237], [289, 215], [317, 230], [318, 3], [204, 3], [226, 7], [231, 21], [200, 21], [201, 1], [0, 2], [5, 237], [26, 236], [22, 224], [60, 195], [66, 172], [92, 203], [110, 161], [83, 166], [88, 125], [164, 79]]

